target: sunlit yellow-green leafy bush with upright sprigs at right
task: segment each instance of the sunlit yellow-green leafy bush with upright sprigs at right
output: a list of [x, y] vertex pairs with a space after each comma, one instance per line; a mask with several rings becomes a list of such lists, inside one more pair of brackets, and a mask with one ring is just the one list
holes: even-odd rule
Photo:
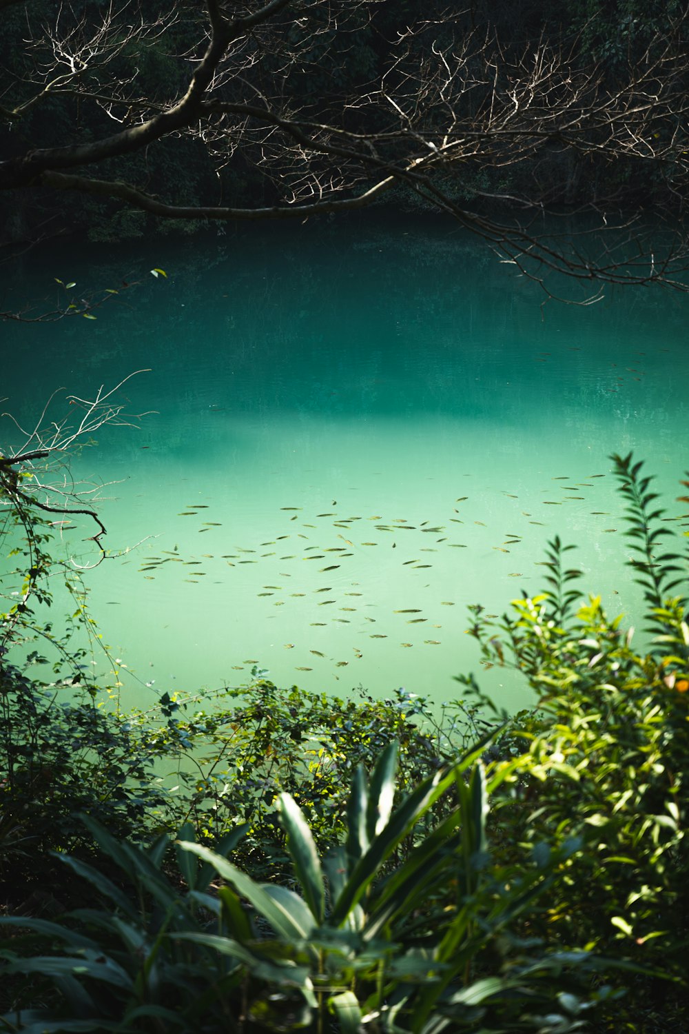
[[614, 461], [649, 648], [635, 648], [633, 629], [574, 587], [578, 572], [565, 568], [557, 539], [546, 591], [514, 601], [498, 624], [476, 608], [473, 632], [487, 660], [514, 665], [537, 694], [536, 710], [510, 730], [524, 753], [498, 766], [510, 787], [501, 822], [511, 843], [581, 835], [587, 845], [530, 929], [682, 981], [676, 992], [662, 981], [635, 982], [628, 1022], [640, 1030], [639, 1007], [667, 1010], [686, 996], [689, 627], [686, 597], [669, 594], [686, 592], [687, 568], [681, 553], [663, 549], [670, 533], [641, 464], [631, 456]]

